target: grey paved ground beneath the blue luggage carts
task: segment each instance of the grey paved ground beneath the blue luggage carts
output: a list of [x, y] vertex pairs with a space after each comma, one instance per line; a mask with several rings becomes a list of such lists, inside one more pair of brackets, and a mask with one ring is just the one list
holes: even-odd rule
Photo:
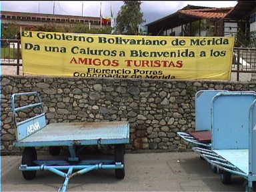
[[[38, 171], [35, 179], [26, 181], [18, 170], [20, 156], [3, 156], [1, 162], [2, 191], [57, 191], [63, 183], [62, 177], [48, 171]], [[245, 191], [244, 179], [236, 176], [231, 185], [223, 185], [219, 175], [193, 152], [126, 154], [125, 166], [121, 181], [113, 170], [91, 171], [72, 178], [69, 192]]]

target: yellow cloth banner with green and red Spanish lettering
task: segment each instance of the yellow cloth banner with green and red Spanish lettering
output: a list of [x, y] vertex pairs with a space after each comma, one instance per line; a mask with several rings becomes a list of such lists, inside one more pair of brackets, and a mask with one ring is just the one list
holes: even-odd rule
[[234, 37], [21, 32], [31, 75], [230, 80]]

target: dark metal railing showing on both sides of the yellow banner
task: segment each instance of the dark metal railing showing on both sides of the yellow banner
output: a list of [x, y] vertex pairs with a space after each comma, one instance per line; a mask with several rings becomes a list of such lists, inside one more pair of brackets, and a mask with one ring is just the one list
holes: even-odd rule
[[[20, 75], [22, 67], [21, 40], [1, 39], [1, 66], [16, 67], [16, 74]], [[231, 68], [233, 81], [256, 81], [256, 49], [235, 47]], [[251, 78], [251, 79], [250, 79]]]

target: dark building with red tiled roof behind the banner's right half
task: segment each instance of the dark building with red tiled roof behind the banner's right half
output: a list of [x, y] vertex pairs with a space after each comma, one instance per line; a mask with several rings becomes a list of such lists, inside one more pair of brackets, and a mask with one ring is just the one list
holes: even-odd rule
[[[233, 9], [234, 7], [213, 8], [187, 5], [146, 26], [150, 35], [229, 36], [236, 33], [237, 21], [221, 19]], [[220, 23], [219, 20], [223, 22]]]

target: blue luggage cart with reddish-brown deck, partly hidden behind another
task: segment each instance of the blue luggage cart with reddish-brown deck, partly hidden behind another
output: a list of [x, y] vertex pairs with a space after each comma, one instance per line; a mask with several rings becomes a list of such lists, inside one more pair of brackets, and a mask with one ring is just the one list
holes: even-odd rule
[[177, 132], [179, 137], [193, 145], [211, 148], [211, 100], [227, 90], [201, 90], [195, 93], [195, 131]]

